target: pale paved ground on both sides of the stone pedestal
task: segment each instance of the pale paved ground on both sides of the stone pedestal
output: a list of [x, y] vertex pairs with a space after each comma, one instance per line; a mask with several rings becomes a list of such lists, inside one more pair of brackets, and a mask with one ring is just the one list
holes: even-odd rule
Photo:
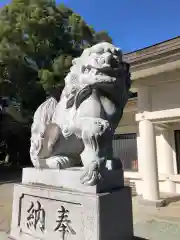
[[[0, 183], [0, 240], [7, 240], [12, 212], [13, 183]], [[134, 233], [137, 240], [179, 240], [180, 202], [164, 208], [140, 206], [133, 197]]]

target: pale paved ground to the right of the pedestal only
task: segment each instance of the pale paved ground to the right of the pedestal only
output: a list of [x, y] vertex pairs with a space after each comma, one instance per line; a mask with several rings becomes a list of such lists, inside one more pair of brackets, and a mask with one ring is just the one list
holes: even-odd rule
[[134, 234], [147, 240], [180, 239], [180, 202], [164, 208], [138, 205], [133, 198]]

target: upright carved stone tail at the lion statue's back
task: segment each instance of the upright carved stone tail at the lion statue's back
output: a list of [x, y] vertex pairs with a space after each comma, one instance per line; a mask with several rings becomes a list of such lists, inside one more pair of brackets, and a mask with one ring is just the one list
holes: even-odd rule
[[43, 135], [47, 124], [49, 124], [52, 120], [57, 103], [56, 99], [51, 97], [42, 103], [34, 114], [33, 124], [31, 127], [30, 157], [35, 167], [39, 166], [38, 154], [42, 147]]

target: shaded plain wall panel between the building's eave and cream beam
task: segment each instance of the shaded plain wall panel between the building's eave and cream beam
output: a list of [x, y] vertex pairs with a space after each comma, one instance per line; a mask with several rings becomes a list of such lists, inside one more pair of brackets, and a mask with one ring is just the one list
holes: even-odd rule
[[152, 111], [180, 107], [180, 81], [166, 82], [151, 87]]

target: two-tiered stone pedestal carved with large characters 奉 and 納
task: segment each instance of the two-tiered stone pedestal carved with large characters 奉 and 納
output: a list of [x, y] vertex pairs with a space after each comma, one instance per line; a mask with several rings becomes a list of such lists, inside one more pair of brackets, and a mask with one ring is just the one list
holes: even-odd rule
[[[74, 178], [70, 180], [69, 177], [73, 173], [75, 173]], [[102, 186], [86, 187], [79, 183], [80, 173], [80, 169], [25, 169], [22, 184], [14, 187], [10, 238], [15, 240], [132, 239], [130, 188], [118, 186], [120, 185], [118, 182], [115, 188], [111, 185], [111, 189], [108, 189], [110, 185], [106, 187], [102, 185], [104, 190]], [[35, 176], [38, 174], [39, 178], [36, 179]], [[58, 178], [61, 174], [64, 175], [63, 179], [66, 176], [67, 181], [63, 182], [60, 177]], [[116, 171], [115, 175], [117, 180]], [[46, 185], [43, 184], [44, 178]]]

